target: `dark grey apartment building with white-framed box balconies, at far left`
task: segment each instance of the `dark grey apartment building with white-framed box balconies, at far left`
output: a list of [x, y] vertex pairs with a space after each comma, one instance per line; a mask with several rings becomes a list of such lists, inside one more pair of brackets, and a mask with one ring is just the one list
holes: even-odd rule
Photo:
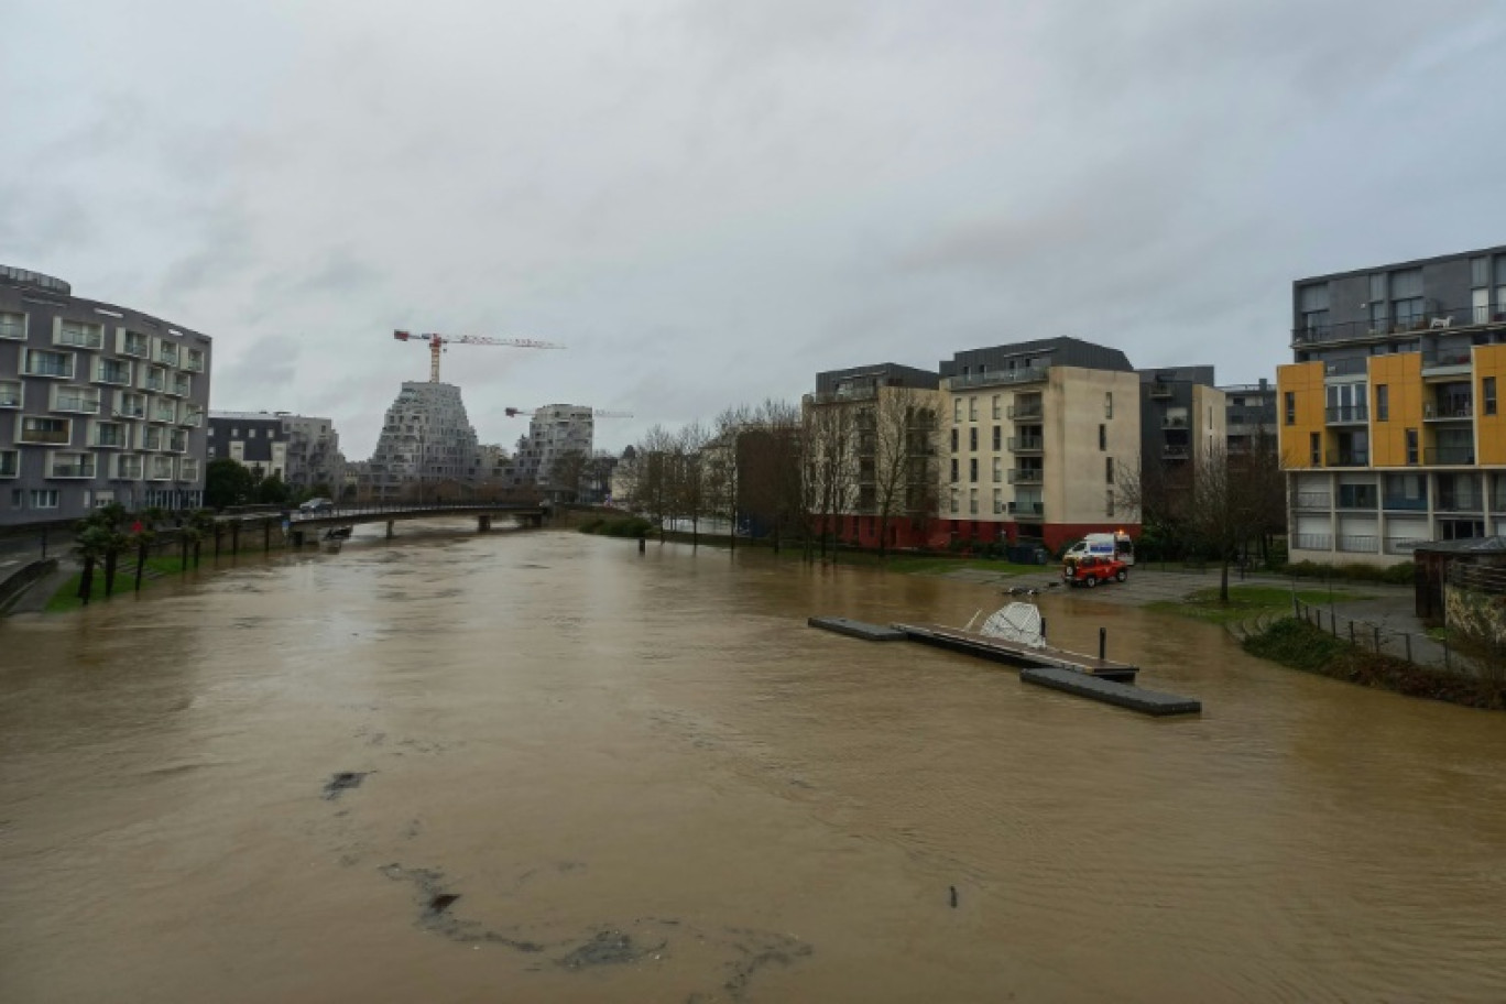
[[203, 497], [211, 340], [0, 265], [0, 525]]

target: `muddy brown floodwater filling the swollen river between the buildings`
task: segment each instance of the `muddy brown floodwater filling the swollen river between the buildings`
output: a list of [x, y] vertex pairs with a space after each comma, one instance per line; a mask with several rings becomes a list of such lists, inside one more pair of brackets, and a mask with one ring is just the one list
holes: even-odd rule
[[1506, 999], [1506, 718], [1047, 596], [1158, 721], [804, 626], [986, 587], [405, 533], [0, 622], [0, 999]]

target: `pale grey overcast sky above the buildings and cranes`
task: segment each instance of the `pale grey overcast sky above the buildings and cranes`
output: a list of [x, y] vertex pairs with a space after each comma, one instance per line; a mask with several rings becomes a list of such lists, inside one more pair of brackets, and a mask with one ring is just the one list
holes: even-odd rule
[[1495, 0], [0, 0], [0, 263], [364, 459], [422, 345], [652, 423], [1077, 336], [1223, 384], [1291, 281], [1506, 242]]

